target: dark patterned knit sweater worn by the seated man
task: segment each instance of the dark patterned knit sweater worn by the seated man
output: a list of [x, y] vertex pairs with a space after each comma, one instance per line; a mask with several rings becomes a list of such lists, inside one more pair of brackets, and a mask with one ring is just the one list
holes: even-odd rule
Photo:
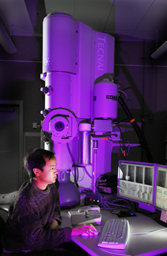
[[49, 229], [51, 220], [61, 224], [60, 198], [54, 184], [40, 190], [30, 179], [21, 186], [10, 205], [3, 247], [6, 251], [56, 250], [71, 239], [70, 227]]

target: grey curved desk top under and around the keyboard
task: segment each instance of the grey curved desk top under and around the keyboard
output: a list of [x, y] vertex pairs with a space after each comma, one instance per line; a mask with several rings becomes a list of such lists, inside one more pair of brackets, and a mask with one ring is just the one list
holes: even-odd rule
[[[164, 229], [162, 225], [157, 224], [155, 220], [142, 214], [136, 214], [136, 217], [127, 217], [129, 220], [130, 233], [144, 233], [159, 229]], [[109, 218], [118, 218], [118, 216], [110, 213], [110, 210], [101, 209], [101, 225], [96, 226], [97, 231], [101, 233], [105, 221]], [[62, 211], [62, 227], [72, 227], [68, 211]], [[97, 247], [99, 235], [90, 237], [73, 236], [73, 242], [84, 249], [92, 256], [109, 256], [109, 255], [131, 255], [131, 256], [153, 256], [167, 252], [167, 230], [159, 231], [151, 235], [131, 235], [125, 250], [110, 250], [104, 248], [102, 251]]]

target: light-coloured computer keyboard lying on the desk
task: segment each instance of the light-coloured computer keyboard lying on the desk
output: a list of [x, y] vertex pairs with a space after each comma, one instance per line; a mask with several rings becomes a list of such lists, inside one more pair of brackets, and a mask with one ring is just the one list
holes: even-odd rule
[[97, 245], [103, 248], [125, 249], [128, 239], [129, 221], [110, 219], [105, 222]]

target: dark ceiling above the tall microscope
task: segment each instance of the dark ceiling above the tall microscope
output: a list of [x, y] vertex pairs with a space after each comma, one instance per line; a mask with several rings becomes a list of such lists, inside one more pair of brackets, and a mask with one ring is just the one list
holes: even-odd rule
[[0, 0], [10, 36], [42, 36], [43, 18], [53, 10], [119, 38], [158, 41], [167, 35], [167, 0]]

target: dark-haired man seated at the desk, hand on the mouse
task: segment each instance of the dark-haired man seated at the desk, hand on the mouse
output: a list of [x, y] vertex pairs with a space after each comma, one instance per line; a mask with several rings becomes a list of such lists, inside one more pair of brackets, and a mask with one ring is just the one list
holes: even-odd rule
[[3, 255], [45, 255], [46, 251], [46, 255], [66, 255], [61, 245], [69, 242], [71, 235], [89, 234], [96, 229], [92, 225], [58, 227], [60, 197], [54, 184], [57, 170], [53, 152], [34, 149], [25, 155], [24, 166], [30, 179], [10, 205], [2, 239]]

